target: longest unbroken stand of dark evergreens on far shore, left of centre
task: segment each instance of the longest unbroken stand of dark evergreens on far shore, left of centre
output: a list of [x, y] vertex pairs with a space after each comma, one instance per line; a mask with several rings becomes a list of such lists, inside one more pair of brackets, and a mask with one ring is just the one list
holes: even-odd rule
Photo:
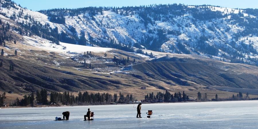
[[[48, 96], [50, 101], [48, 101]], [[56, 91], [51, 91], [50, 94], [46, 89], [41, 91], [36, 91], [36, 94], [32, 92], [30, 95], [24, 95], [24, 98], [19, 100], [16, 98], [13, 105], [85, 105], [85, 104], [109, 104], [109, 103], [129, 103], [134, 101], [133, 95], [123, 95], [121, 92], [119, 94], [114, 93], [89, 93], [79, 92], [78, 95], [69, 93], [65, 91], [64, 93], [59, 93]], [[2, 99], [1, 99], [2, 100]]]

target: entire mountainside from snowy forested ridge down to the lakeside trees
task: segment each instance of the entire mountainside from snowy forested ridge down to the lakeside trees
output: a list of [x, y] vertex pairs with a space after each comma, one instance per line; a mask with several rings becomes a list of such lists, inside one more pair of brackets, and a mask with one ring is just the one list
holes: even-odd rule
[[35, 12], [9, 0], [1, 5], [1, 91], [258, 95], [252, 9], [169, 4]]

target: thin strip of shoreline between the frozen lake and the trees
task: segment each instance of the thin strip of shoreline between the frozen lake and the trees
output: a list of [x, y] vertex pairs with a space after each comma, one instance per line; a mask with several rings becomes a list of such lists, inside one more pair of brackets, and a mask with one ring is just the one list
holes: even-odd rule
[[[258, 101], [257, 99], [253, 100], [224, 100], [224, 101], [181, 101], [181, 102], [157, 102], [157, 103], [142, 103], [142, 104], [159, 104], [159, 103], [196, 103], [196, 102], [226, 102], [226, 101]], [[129, 105], [129, 104], [138, 104], [138, 103], [116, 103], [116, 104], [91, 104], [91, 105], [36, 105], [36, 106], [9, 106], [9, 107], [0, 107], [1, 109], [12, 109], [12, 108], [38, 108], [38, 107], [75, 107], [75, 106], [99, 106], [99, 105]]]

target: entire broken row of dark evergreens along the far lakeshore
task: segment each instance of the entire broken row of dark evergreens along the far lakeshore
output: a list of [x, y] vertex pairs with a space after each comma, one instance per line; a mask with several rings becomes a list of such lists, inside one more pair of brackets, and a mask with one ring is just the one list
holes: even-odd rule
[[[0, 96], [0, 107], [5, 103], [6, 93], [4, 92]], [[49, 97], [48, 97], [49, 96]], [[50, 101], [48, 101], [48, 98]], [[180, 101], [191, 101], [189, 96], [183, 91], [176, 92], [174, 94], [169, 93], [167, 90], [165, 93], [158, 92], [156, 95], [152, 92], [146, 94], [144, 97], [147, 102], [180, 102]], [[199, 101], [224, 101], [224, 100], [253, 100], [258, 98], [250, 99], [249, 93], [247, 92], [244, 96], [242, 92], [232, 95], [232, 97], [222, 98], [218, 94], [215, 95], [215, 98], [209, 99], [207, 93], [198, 92], [196, 100]], [[114, 93], [89, 93], [79, 92], [78, 95], [69, 93], [65, 91], [64, 93], [59, 93], [56, 91], [47, 92], [46, 89], [41, 91], [36, 91], [36, 94], [32, 92], [30, 95], [24, 95], [23, 99], [16, 98], [12, 105], [16, 106], [27, 106], [27, 105], [87, 105], [87, 104], [109, 104], [109, 103], [130, 103], [130, 101], [137, 101], [133, 95], [123, 95], [121, 92], [119, 94]]]

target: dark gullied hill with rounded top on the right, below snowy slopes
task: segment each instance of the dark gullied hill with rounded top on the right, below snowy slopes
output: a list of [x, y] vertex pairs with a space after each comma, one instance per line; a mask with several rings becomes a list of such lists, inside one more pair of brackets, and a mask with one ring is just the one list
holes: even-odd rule
[[[193, 63], [195, 62], [195, 63]], [[211, 61], [209, 61], [211, 62]], [[205, 65], [204, 65], [205, 64]], [[169, 85], [197, 86], [227, 86], [236, 88], [257, 89], [257, 67], [249, 68], [253, 73], [236, 72], [241, 65], [230, 66], [218, 63], [221, 68], [207, 64], [206, 60], [182, 59], [176, 62], [146, 62], [132, 66], [132, 73], [145, 75], [142, 80], [155, 79]], [[224, 69], [227, 68], [227, 69]], [[127, 71], [125, 71], [127, 72]], [[140, 72], [140, 73], [138, 73]]]

